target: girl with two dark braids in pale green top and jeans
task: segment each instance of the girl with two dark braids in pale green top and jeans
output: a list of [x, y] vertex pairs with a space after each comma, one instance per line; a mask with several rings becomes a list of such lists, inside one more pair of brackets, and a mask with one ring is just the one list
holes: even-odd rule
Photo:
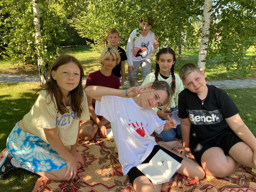
[[[175, 52], [171, 48], [162, 48], [156, 53], [156, 69], [154, 72], [148, 74], [144, 79], [142, 86], [152, 83], [154, 81], [166, 81], [172, 90], [172, 102], [170, 110], [163, 110], [162, 107], [154, 108], [156, 114], [160, 119], [166, 120], [167, 115], [172, 116], [171, 112], [177, 110], [178, 95], [184, 89], [182, 81], [178, 74], [174, 73], [174, 66], [176, 63]], [[176, 129], [162, 131], [160, 134], [156, 133], [158, 139], [164, 142], [159, 142], [159, 145], [175, 148], [180, 147], [181, 143], [174, 141], [175, 136], [182, 138], [180, 131], [180, 124]]]

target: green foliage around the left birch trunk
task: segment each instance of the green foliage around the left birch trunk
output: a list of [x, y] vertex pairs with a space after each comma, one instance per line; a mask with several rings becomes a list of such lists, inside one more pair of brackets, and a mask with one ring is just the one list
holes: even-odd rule
[[[69, 4], [63, 3], [62, 0], [40, 2], [40, 29], [43, 44], [40, 56], [44, 57], [45, 65], [49, 66], [59, 55], [60, 44], [72, 35], [66, 28], [70, 26], [68, 13], [73, 6], [68, 6]], [[4, 59], [11, 63], [36, 65], [38, 56], [32, 3], [29, 0], [21, 0], [19, 3], [4, 0], [0, 2], [0, 7], [0, 49]]]

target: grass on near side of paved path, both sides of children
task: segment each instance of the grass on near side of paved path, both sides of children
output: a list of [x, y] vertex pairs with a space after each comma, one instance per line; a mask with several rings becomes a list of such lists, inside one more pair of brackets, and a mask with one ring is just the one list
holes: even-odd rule
[[[14, 125], [28, 113], [38, 94], [38, 83], [0, 84], [0, 151], [6, 147], [6, 139]], [[240, 109], [245, 124], [256, 136], [256, 88], [226, 89]], [[1, 191], [32, 191], [36, 180], [34, 173], [18, 169], [8, 174], [7, 179], [0, 181]]]

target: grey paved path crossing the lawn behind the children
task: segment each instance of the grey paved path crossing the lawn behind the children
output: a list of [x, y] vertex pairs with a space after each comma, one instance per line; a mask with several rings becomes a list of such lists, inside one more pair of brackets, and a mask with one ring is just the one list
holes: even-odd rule
[[[38, 76], [20, 76], [10, 74], [0, 74], [0, 83], [19, 83], [19, 82], [40, 82]], [[86, 78], [84, 78], [84, 84]], [[142, 81], [136, 83], [141, 85]], [[234, 79], [221, 81], [207, 81], [207, 84], [214, 85], [219, 88], [242, 88], [242, 87], [256, 87], [256, 79]], [[124, 81], [123, 86], [129, 86], [128, 80]]]

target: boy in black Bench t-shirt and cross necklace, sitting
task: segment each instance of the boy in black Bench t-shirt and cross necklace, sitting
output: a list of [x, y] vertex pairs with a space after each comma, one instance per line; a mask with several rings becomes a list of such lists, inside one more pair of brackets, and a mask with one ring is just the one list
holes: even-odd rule
[[[239, 116], [228, 94], [206, 85], [204, 71], [185, 64], [180, 78], [187, 89], [179, 94], [182, 150], [190, 150], [205, 172], [226, 177], [240, 165], [256, 167], [256, 139]], [[254, 168], [254, 169], [251, 169]]]

